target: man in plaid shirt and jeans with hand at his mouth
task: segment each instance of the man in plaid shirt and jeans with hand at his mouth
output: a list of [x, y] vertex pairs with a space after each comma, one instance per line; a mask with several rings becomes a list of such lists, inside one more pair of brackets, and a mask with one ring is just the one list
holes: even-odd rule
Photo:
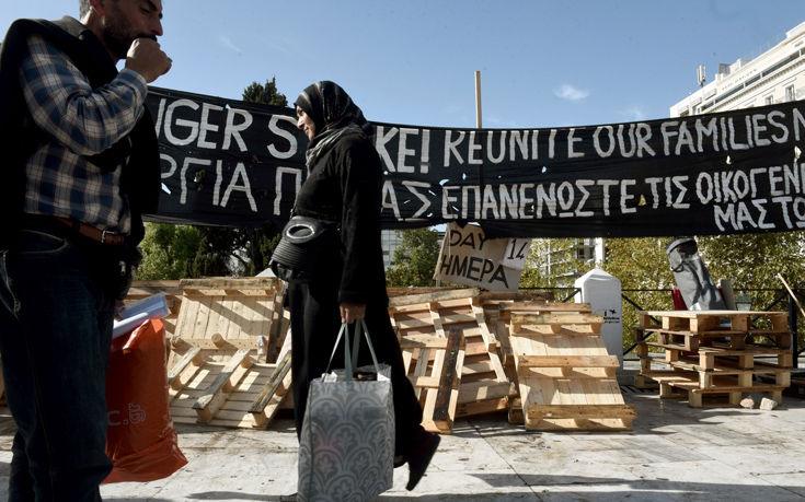
[[80, 22], [15, 22], [0, 51], [0, 113], [11, 122], [2, 132], [23, 131], [9, 143], [19, 162], [3, 165], [10, 178], [19, 173], [21, 208], [11, 209], [22, 212], [3, 215], [15, 224], [0, 255], [0, 353], [18, 425], [12, 501], [101, 498], [112, 468], [105, 375], [115, 303], [142, 236], [140, 213], [158, 196], [145, 101], [147, 84], [171, 67], [157, 43], [162, 2], [80, 3]]

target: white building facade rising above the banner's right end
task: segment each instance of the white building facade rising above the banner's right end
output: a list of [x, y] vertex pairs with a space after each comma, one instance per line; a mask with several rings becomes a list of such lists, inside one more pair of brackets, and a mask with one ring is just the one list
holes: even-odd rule
[[755, 59], [718, 65], [715, 80], [670, 107], [671, 117], [805, 98], [805, 22]]

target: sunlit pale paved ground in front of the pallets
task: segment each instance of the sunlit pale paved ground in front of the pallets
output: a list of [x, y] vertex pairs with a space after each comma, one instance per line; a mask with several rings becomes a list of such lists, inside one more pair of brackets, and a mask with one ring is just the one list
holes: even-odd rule
[[[505, 415], [461, 420], [428, 475], [407, 471], [379, 501], [805, 500], [805, 400], [773, 411], [693, 409], [654, 392], [624, 392], [634, 431], [536, 433]], [[292, 422], [268, 431], [179, 427], [189, 464], [169, 479], [104, 486], [105, 500], [274, 501], [296, 491]], [[13, 422], [0, 408], [0, 500], [7, 499]]]

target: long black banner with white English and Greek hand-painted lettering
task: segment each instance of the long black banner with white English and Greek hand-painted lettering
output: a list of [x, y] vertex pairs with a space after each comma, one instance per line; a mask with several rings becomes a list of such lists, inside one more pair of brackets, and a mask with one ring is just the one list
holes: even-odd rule
[[[152, 221], [288, 219], [307, 139], [290, 108], [152, 87], [163, 194]], [[805, 227], [805, 103], [603, 126], [375, 122], [383, 226], [481, 223], [488, 236], [664, 236]]]

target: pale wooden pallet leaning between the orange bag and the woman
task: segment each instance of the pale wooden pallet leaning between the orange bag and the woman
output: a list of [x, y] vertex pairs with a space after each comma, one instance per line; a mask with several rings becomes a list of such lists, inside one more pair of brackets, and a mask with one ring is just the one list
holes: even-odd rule
[[281, 283], [212, 279], [182, 287], [169, 363], [173, 420], [267, 427], [291, 385]]

